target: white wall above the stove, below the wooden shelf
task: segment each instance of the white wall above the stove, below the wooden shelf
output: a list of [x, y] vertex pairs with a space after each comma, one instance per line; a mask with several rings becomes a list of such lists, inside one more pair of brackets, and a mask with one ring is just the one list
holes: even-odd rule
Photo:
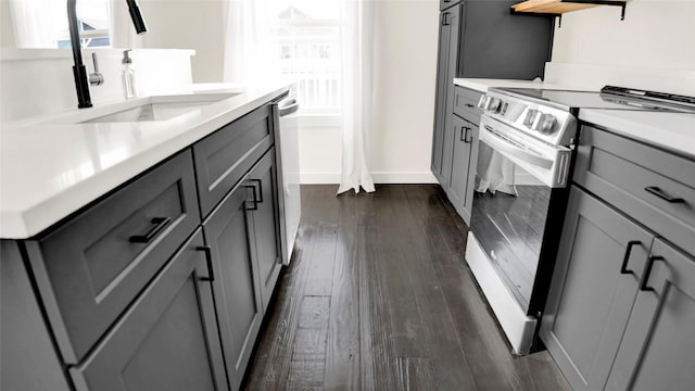
[[695, 0], [630, 0], [624, 21], [616, 7], [566, 13], [552, 63], [570, 65], [560, 83], [695, 94]]

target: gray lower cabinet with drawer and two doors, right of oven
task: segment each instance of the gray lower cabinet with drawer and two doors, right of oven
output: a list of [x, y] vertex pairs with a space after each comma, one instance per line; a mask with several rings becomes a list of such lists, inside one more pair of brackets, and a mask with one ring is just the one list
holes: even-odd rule
[[541, 338], [576, 390], [692, 390], [695, 161], [581, 128]]

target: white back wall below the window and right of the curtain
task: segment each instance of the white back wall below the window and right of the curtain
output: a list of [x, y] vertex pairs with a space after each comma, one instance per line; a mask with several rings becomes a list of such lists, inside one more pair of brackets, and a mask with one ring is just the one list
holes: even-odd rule
[[[374, 127], [368, 160], [375, 182], [434, 182], [430, 173], [439, 2], [377, 0]], [[302, 182], [340, 181], [338, 126], [300, 121]]]

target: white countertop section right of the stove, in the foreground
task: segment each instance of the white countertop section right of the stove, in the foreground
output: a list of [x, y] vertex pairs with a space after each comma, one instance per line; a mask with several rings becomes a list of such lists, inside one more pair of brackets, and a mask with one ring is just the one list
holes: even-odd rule
[[582, 109], [579, 118], [695, 159], [695, 114]]

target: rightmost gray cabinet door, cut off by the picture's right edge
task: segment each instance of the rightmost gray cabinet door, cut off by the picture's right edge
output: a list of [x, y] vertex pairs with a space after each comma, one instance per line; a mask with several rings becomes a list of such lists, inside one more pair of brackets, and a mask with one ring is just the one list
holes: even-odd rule
[[660, 239], [647, 290], [637, 294], [610, 390], [692, 390], [695, 384], [695, 258]]

